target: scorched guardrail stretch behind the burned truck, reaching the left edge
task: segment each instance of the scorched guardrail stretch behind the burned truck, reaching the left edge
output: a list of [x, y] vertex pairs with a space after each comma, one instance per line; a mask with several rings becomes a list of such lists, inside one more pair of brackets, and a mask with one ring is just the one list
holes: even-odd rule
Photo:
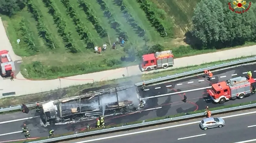
[[[133, 87], [133, 85], [125, 85], [125, 86], [121, 86], [118, 88], [131, 88]], [[107, 88], [107, 89], [102, 89], [102, 90], [98, 90], [98, 91], [94, 91], [94, 92], [90, 92], [90, 93], [86, 93], [84, 95], [79, 95], [79, 96], [73, 96], [73, 97], [69, 97], [69, 98], [63, 98], [63, 99], [58, 99], [58, 100], [54, 100], [54, 103], [58, 103], [58, 102], [67, 102], [70, 100], [75, 100], [75, 99], [79, 99], [79, 98], [85, 98], [85, 97], [91, 97], [94, 95], [100, 95], [100, 94], [105, 94], [108, 92], [113, 92], [115, 91], [115, 88]], [[36, 107], [37, 103], [39, 105], [43, 105], [44, 103], [47, 103], [49, 101], [38, 101], [38, 102], [34, 102], [32, 104], [26, 104], [28, 108], [32, 108], [32, 107]], [[13, 106], [13, 107], [6, 107], [6, 108], [0, 108], [0, 113], [1, 112], [6, 112], [6, 111], [13, 111], [13, 110], [19, 110], [22, 109], [22, 105], [17, 105], [17, 106]]]

